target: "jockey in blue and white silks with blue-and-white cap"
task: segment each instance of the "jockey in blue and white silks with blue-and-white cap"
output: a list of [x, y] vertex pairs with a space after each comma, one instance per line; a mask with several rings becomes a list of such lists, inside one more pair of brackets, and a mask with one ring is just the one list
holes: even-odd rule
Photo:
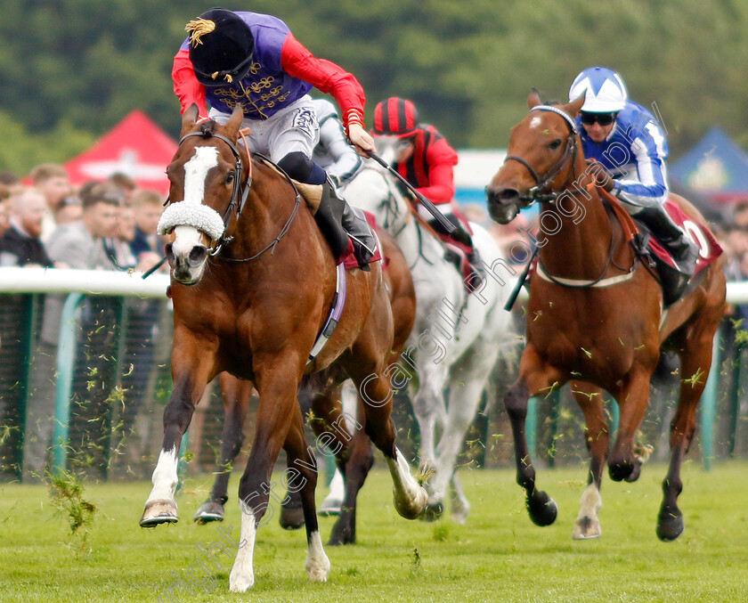
[[652, 113], [629, 100], [626, 85], [611, 69], [582, 71], [569, 89], [569, 100], [585, 96], [576, 118], [585, 158], [598, 161], [606, 175], [598, 177], [670, 249], [684, 273], [693, 273], [695, 243], [665, 212], [669, 187], [665, 159], [668, 143]]

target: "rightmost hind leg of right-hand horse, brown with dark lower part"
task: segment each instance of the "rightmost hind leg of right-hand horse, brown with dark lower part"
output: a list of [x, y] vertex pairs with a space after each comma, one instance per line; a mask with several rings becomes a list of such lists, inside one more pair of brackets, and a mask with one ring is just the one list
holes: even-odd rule
[[696, 406], [711, 369], [711, 342], [717, 325], [719, 323], [713, 329], [690, 333], [680, 354], [680, 396], [671, 421], [671, 462], [663, 481], [663, 504], [657, 518], [657, 536], [665, 542], [678, 538], [685, 528], [678, 508], [678, 496], [683, 490], [680, 465], [694, 437]]

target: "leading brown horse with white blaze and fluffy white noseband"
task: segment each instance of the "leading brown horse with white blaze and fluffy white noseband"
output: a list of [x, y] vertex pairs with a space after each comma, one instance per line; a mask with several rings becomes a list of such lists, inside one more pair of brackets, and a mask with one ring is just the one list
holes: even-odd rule
[[225, 126], [212, 120], [196, 123], [197, 116], [194, 106], [184, 113], [179, 148], [167, 168], [171, 204], [159, 224], [161, 231], [174, 232], [167, 247], [174, 390], [141, 525], [177, 520], [180, 439], [207, 382], [229, 371], [251, 381], [259, 394], [255, 439], [240, 479], [241, 527], [230, 589], [246, 591], [254, 584], [256, 530], [277, 501], [272, 467], [281, 447], [288, 463], [281, 482], [301, 493], [306, 571], [312, 580], [323, 581], [329, 559], [314, 504], [315, 459], [297, 401], [305, 373], [339, 366], [354, 379], [369, 401], [365, 430], [385, 455], [395, 508], [415, 518], [427, 503], [426, 491], [394, 445], [392, 392], [384, 374], [393, 322], [381, 262], [371, 264], [370, 272], [344, 273], [346, 306], [327, 345], [310, 359], [318, 334], [329, 333], [327, 319], [337, 297], [339, 273], [329, 245], [293, 183], [237, 144], [239, 105]]

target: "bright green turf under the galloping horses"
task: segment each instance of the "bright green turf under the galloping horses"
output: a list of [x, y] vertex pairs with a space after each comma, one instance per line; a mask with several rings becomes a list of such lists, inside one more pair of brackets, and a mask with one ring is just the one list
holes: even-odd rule
[[[545, 528], [530, 522], [508, 469], [461, 472], [473, 505], [466, 526], [448, 517], [434, 524], [397, 517], [389, 476], [378, 469], [360, 497], [358, 544], [326, 548], [328, 583], [306, 577], [304, 532], [285, 532], [273, 519], [258, 535], [254, 589], [229, 592], [226, 564], [212, 591], [176, 589], [175, 600], [748, 600], [748, 464], [706, 473], [687, 463], [680, 496], [686, 532], [671, 543], [654, 534], [664, 472], [647, 465], [635, 484], [606, 478], [603, 536], [574, 542], [583, 468], [539, 471], [539, 485], [559, 506], [556, 523]], [[157, 601], [204, 559], [196, 545], [220, 537], [215, 525], [191, 522], [210, 479], [188, 479], [177, 497], [182, 520], [155, 530], [138, 527], [149, 483], [85, 485], [83, 497], [96, 511], [83, 548], [44, 485], [0, 486], [0, 601]], [[238, 476], [232, 495], [237, 484]], [[224, 527], [234, 526], [238, 537], [235, 496], [228, 509]], [[332, 521], [321, 518], [324, 539]]]

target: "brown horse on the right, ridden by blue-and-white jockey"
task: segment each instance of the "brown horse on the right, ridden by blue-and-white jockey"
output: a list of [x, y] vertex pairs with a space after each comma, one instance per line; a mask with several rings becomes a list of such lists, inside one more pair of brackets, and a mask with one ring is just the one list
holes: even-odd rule
[[[529, 396], [547, 395], [572, 380], [587, 422], [591, 457], [589, 485], [581, 497], [573, 534], [598, 536], [604, 465], [607, 461], [616, 481], [638, 477], [641, 459], [634, 437], [646, 409], [649, 381], [660, 351], [673, 350], [680, 357], [682, 381], [657, 522], [657, 535], [671, 541], [684, 528], [677, 503], [682, 489], [680, 465], [694, 436], [696, 405], [711, 366], [712, 338], [724, 314], [724, 259], [705, 268], [697, 286], [663, 312], [662, 289], [626, 244], [621, 223], [609, 218], [585, 163], [574, 126], [583, 101], [582, 96], [565, 105], [547, 106], [538, 94], [531, 94], [530, 113], [512, 128], [508, 158], [487, 188], [494, 220], [508, 224], [519, 208], [539, 200], [541, 224], [548, 212], [545, 224], [553, 232], [543, 231], [547, 236], [539, 241], [540, 263], [527, 306], [526, 345], [518, 379], [505, 398], [515, 437], [517, 482], [524, 488], [533, 522], [553, 523], [556, 503], [535, 487], [524, 420]], [[705, 226], [687, 201], [679, 204], [695, 223]], [[611, 452], [600, 388], [614, 396], [621, 412]]]

